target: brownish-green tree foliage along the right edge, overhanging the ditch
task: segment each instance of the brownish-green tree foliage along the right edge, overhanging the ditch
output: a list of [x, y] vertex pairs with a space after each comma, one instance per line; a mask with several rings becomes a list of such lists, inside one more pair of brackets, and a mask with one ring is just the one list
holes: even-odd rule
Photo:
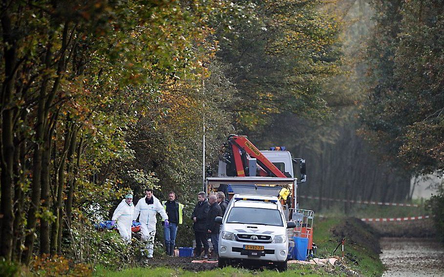
[[[367, 134], [412, 175], [443, 172], [441, 1], [375, 2], [367, 60], [373, 87], [362, 113]], [[442, 213], [442, 198], [433, 212]], [[442, 217], [435, 217], [442, 229]]]

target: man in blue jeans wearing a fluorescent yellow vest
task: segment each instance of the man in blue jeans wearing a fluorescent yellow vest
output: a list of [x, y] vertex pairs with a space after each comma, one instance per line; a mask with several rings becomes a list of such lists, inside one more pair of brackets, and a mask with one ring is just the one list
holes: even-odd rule
[[162, 205], [169, 219], [168, 226], [164, 224], [165, 248], [167, 255], [173, 256], [174, 246], [176, 244], [177, 225], [182, 224], [184, 205], [176, 201], [176, 194], [174, 192], [168, 194], [168, 201], [162, 201]]

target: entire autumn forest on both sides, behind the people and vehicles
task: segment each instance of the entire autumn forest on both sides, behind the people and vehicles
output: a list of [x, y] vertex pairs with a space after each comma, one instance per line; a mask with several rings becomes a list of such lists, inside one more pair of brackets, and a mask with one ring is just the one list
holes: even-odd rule
[[[299, 193], [308, 196], [402, 202], [412, 178], [442, 176], [441, 1], [2, 0], [0, 9], [2, 267], [47, 257], [73, 271], [128, 266], [120, 237], [93, 225], [146, 187], [162, 200], [177, 194], [178, 239], [190, 243], [204, 136], [213, 171], [230, 134], [285, 145], [307, 160]], [[444, 234], [443, 184], [437, 191], [426, 206]]]

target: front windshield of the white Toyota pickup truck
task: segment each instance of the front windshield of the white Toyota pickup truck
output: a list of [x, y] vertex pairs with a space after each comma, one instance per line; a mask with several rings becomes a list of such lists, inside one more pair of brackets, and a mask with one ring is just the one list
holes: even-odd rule
[[226, 223], [284, 226], [278, 210], [247, 207], [233, 207]]

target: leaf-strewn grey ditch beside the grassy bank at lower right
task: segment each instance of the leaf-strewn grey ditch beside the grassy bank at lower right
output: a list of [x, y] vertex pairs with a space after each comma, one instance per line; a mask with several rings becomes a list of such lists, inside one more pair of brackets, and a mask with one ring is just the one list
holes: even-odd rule
[[380, 244], [383, 277], [444, 276], [444, 247], [435, 239], [383, 237]]

